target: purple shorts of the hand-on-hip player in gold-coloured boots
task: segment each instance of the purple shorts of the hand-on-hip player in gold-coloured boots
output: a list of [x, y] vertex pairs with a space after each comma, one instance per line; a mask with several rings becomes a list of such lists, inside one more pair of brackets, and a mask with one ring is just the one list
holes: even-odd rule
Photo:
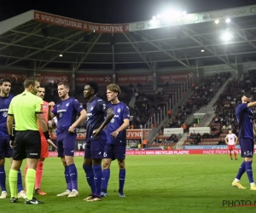
[[99, 140], [86, 142], [84, 148], [84, 159], [102, 159], [106, 142], [107, 140], [104, 140], [102, 138], [100, 138]]

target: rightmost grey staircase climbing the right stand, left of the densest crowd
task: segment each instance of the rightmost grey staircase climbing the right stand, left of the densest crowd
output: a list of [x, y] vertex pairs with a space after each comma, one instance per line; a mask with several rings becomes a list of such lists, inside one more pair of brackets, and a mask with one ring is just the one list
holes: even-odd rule
[[[212, 118], [214, 118], [214, 116], [215, 116], [214, 104], [216, 103], [216, 101], [218, 101], [219, 95], [221, 95], [224, 92], [224, 89], [226, 88], [227, 84], [232, 80], [233, 80], [233, 77], [231, 77], [225, 81], [225, 83], [222, 85], [222, 87], [220, 89], [218, 89], [218, 92], [212, 98], [212, 101], [210, 101], [210, 103], [207, 105], [207, 107], [204, 107], [200, 111], [195, 112], [195, 113], [207, 113], [206, 116], [201, 119], [201, 123], [198, 125], [199, 127], [205, 127], [211, 123]], [[183, 136], [180, 138], [180, 140], [177, 141], [176, 149], [183, 149], [183, 143], [184, 143], [184, 141], [186, 141], [188, 135], [189, 135], [189, 133], [183, 134]]]

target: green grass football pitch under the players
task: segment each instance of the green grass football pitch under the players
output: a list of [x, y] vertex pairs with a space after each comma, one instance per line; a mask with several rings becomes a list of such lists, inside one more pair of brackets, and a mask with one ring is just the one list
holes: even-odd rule
[[[224, 200], [249, 200], [252, 204], [256, 200], [256, 192], [249, 190], [246, 174], [241, 180], [246, 190], [231, 187], [241, 158], [235, 161], [228, 155], [127, 156], [126, 198], [117, 196], [118, 166], [113, 161], [108, 198], [95, 203], [83, 200], [90, 190], [82, 169], [83, 158], [75, 158], [75, 161], [79, 171], [78, 198], [56, 197], [66, 189], [64, 170], [59, 158], [48, 158], [44, 164], [42, 188], [49, 194], [36, 196], [45, 204], [25, 205], [21, 199], [18, 204], [9, 204], [9, 199], [2, 199], [0, 212], [255, 212], [253, 206], [223, 206]], [[256, 167], [253, 167], [256, 180]], [[9, 161], [6, 170], [9, 171]]]

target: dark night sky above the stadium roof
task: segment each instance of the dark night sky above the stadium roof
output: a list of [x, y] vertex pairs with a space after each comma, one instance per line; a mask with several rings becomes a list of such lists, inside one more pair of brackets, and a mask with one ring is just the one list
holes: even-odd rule
[[0, 21], [37, 9], [95, 23], [127, 23], [149, 20], [173, 5], [190, 14], [253, 4], [255, 0], [0, 0]]

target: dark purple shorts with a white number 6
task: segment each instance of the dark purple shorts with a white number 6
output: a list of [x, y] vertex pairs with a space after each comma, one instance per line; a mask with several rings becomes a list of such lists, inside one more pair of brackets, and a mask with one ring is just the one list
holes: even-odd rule
[[107, 143], [104, 148], [103, 158], [111, 158], [114, 159], [125, 159], [126, 147], [115, 145], [112, 143]]

